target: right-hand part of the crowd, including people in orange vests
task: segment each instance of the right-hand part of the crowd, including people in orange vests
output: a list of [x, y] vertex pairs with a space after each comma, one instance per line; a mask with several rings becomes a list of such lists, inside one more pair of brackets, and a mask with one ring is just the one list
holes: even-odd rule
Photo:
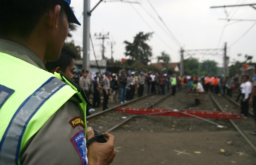
[[[255, 66], [256, 73], [256, 66]], [[242, 75], [241, 82], [238, 82], [238, 75], [223, 78], [220, 76], [202, 76], [191, 77], [187, 76], [186, 79], [189, 83], [190, 90], [197, 92], [212, 92], [219, 95], [226, 94], [229, 97], [233, 97], [233, 90], [239, 89], [239, 94], [236, 101], [240, 103], [241, 111], [246, 117], [249, 117], [249, 106], [252, 106], [254, 114], [256, 114], [256, 76], [249, 78], [248, 75]], [[199, 99], [195, 99], [196, 104], [200, 104]], [[254, 115], [256, 123], [256, 115]], [[256, 131], [250, 132], [252, 135], [256, 135]]]

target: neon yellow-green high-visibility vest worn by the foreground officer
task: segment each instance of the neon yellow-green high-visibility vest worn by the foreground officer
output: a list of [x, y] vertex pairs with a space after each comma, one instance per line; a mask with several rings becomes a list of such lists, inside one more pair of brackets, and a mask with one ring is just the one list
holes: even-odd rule
[[2, 52], [0, 72], [0, 164], [19, 164], [26, 142], [74, 94], [78, 94], [86, 112], [87, 103], [80, 91], [61, 75], [56, 74], [57, 78]]

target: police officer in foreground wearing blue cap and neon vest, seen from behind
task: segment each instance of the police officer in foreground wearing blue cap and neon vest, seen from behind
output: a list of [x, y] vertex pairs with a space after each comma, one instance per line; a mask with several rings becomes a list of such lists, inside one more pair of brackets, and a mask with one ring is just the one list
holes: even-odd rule
[[[64, 74], [45, 69], [56, 61], [69, 22], [80, 25], [70, 0], [1, 0], [0, 165], [108, 165], [114, 136], [97, 143], [86, 130], [83, 90]], [[90, 144], [86, 146], [86, 141]]]

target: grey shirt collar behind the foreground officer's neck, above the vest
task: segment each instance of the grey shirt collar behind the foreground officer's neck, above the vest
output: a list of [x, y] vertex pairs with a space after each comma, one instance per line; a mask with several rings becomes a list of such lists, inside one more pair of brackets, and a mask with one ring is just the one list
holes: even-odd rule
[[0, 39], [0, 52], [22, 59], [38, 68], [44, 69], [45, 65], [39, 57], [26, 47], [10, 40]]

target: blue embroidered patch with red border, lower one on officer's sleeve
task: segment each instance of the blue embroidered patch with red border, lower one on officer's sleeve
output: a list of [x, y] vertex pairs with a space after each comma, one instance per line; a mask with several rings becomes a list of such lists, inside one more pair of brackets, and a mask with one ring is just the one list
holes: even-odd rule
[[79, 131], [72, 138], [71, 141], [78, 152], [83, 165], [88, 165], [87, 148], [85, 140], [85, 132]]

